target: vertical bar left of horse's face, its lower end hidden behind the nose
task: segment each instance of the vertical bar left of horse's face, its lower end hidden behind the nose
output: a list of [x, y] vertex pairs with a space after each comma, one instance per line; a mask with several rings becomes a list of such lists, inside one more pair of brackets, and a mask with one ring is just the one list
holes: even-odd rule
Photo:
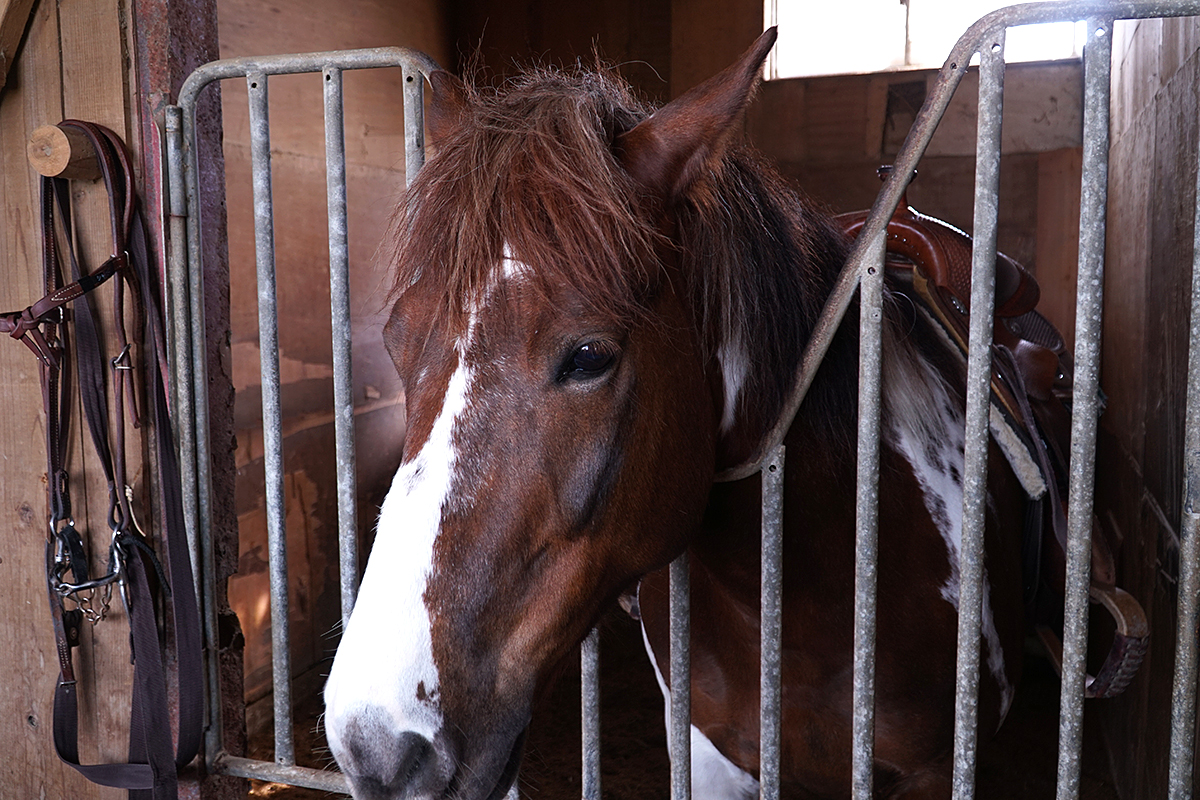
[[342, 71], [325, 67], [325, 193], [329, 206], [329, 302], [334, 342], [334, 451], [337, 462], [337, 559], [342, 626], [359, 590], [359, 527], [354, 455], [354, 377], [350, 359], [350, 259], [346, 222], [346, 127]]

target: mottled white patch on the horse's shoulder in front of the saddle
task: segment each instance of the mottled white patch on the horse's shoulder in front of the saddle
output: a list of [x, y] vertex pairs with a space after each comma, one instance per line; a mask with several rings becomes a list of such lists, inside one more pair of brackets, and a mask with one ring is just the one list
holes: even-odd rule
[[[959, 558], [962, 549], [962, 470], [966, 422], [944, 379], [910, 348], [893, 344], [883, 359], [884, 437], [912, 465], [934, 524], [946, 541], [950, 576], [942, 597], [959, 608]], [[988, 669], [1001, 693], [1001, 720], [1014, 688], [1004, 670], [1004, 651], [991, 610], [991, 583], [983, 573], [983, 637]]]

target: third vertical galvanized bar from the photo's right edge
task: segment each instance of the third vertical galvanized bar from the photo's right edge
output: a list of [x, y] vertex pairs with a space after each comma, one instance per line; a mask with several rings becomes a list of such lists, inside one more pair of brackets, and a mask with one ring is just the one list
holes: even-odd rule
[[979, 726], [979, 657], [984, 603], [984, 510], [988, 498], [988, 415], [991, 404], [991, 329], [996, 307], [996, 221], [1000, 213], [1000, 133], [1004, 101], [1004, 34], [979, 48], [974, 240], [971, 253], [971, 320], [959, 547], [959, 642], [954, 704], [955, 800], [974, 798]]

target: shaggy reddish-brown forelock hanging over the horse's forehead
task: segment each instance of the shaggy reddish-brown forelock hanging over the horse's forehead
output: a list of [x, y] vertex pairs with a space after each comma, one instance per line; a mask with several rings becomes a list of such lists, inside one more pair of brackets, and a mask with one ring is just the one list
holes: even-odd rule
[[658, 278], [660, 234], [612, 140], [648, 109], [594, 71], [536, 70], [468, 97], [394, 222], [394, 294], [431, 281], [461, 318], [511, 257], [547, 295], [570, 285], [593, 311], [630, 320]]

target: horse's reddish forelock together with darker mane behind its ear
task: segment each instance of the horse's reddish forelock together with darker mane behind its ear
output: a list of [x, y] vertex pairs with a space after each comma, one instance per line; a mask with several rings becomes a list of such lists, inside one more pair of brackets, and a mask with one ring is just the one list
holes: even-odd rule
[[[594, 309], [634, 319], [660, 277], [646, 269], [665, 241], [613, 142], [653, 108], [605, 67], [540, 67], [467, 92], [461, 124], [394, 222], [395, 291], [432, 279], [446, 311], [462, 314], [511, 257], [544, 285], [574, 285]], [[743, 348], [742, 397], [770, 416], [845, 260], [842, 236], [739, 143], [679, 201], [677, 222], [677, 259], [708, 355]]]

